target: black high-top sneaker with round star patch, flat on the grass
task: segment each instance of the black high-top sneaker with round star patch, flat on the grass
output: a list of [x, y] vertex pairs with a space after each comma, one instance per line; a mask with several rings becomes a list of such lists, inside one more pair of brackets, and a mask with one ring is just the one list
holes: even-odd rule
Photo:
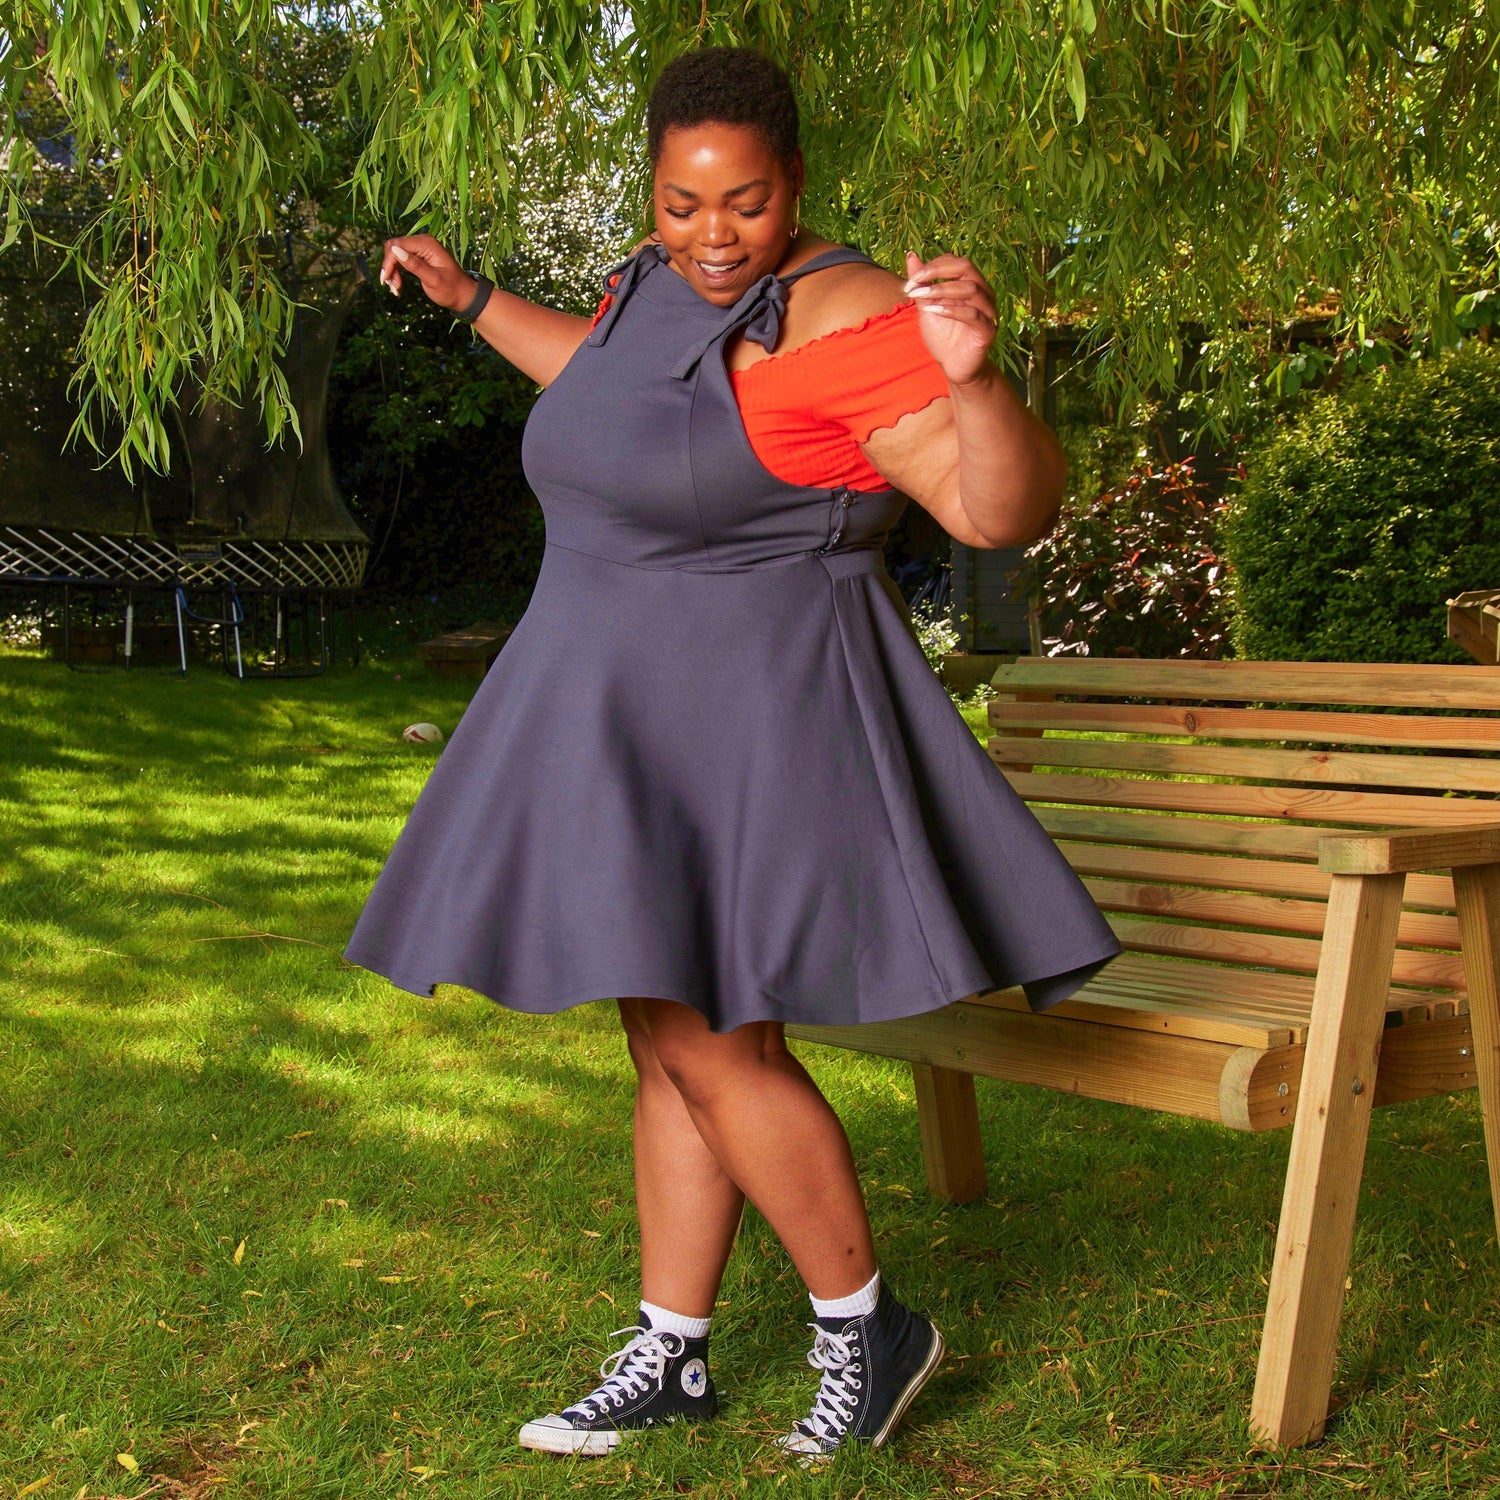
[[702, 1422], [718, 1412], [714, 1382], [708, 1377], [708, 1340], [682, 1338], [651, 1328], [640, 1314], [630, 1342], [600, 1366], [603, 1383], [562, 1412], [528, 1422], [520, 1446], [540, 1454], [578, 1454], [602, 1458], [620, 1446], [622, 1432], [663, 1422]]

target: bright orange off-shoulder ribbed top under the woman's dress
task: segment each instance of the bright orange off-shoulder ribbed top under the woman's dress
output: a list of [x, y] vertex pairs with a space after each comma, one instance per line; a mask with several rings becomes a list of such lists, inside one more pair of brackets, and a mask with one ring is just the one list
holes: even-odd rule
[[[606, 297], [594, 314], [600, 320]], [[772, 354], [729, 381], [754, 456], [789, 484], [890, 489], [860, 450], [878, 428], [948, 394], [915, 302]]]

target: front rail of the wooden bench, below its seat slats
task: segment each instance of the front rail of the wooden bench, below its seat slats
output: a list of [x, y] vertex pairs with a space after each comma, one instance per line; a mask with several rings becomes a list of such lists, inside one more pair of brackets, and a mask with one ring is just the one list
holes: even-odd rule
[[786, 1034], [1206, 1120], [1220, 1118], [1218, 1080], [1234, 1050], [1194, 1036], [1158, 1036], [969, 1002], [898, 1022], [788, 1026]]

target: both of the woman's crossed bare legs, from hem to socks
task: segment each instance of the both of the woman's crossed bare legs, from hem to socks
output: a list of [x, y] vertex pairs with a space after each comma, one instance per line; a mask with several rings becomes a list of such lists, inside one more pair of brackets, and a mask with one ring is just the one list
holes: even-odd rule
[[[716, 1035], [694, 1010], [656, 999], [622, 1000], [621, 1016], [640, 1072], [642, 1275], [663, 1292], [645, 1292], [646, 1300], [706, 1316], [740, 1194], [765, 1215], [814, 1298], [858, 1292], [876, 1264], [854, 1154], [838, 1116], [786, 1050], [782, 1028], [758, 1022]], [[676, 1104], [662, 1096], [657, 1074]], [[696, 1142], [686, 1138], [684, 1116]], [[687, 1293], [692, 1308], [668, 1300]]]

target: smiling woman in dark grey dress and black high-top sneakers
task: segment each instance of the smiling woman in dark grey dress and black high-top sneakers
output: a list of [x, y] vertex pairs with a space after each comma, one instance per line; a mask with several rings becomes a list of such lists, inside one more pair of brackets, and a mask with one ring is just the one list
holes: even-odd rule
[[524, 446], [536, 592], [348, 956], [524, 1011], [618, 998], [640, 1314], [594, 1392], [522, 1428], [548, 1452], [714, 1414], [710, 1318], [747, 1198], [816, 1318], [820, 1384], [782, 1444], [882, 1444], [944, 1342], [882, 1284], [849, 1142], [783, 1023], [1008, 984], [1042, 1008], [1118, 951], [880, 561], [903, 496], [969, 546], [1042, 532], [1058, 442], [988, 363], [994, 298], [969, 261], [908, 255], [903, 285], [800, 228], [796, 129], [758, 52], [669, 64], [657, 230], [592, 322], [490, 290], [426, 236], [381, 268], [546, 387]]

